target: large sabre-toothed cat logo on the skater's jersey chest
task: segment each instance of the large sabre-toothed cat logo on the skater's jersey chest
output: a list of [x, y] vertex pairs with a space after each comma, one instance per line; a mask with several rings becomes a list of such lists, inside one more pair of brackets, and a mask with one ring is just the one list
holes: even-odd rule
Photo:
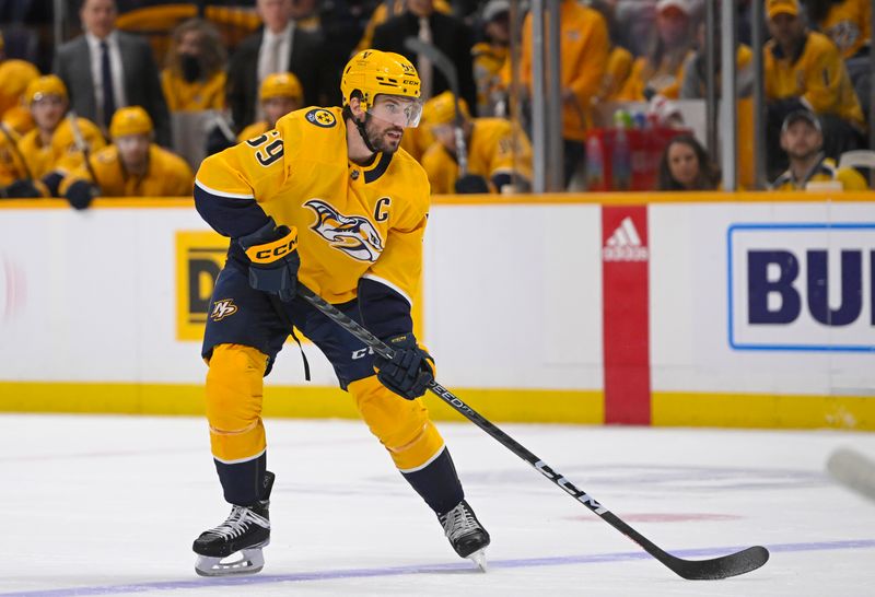
[[343, 215], [319, 199], [311, 199], [306, 207], [316, 212], [311, 226], [336, 249], [359, 261], [376, 261], [383, 253], [383, 238], [368, 218]]

